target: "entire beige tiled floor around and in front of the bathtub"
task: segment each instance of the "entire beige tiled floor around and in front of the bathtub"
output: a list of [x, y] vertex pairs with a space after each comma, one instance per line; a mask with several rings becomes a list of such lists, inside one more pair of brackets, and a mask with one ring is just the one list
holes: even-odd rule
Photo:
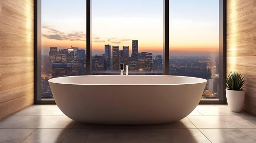
[[199, 105], [171, 124], [107, 126], [74, 122], [56, 105], [34, 105], [0, 122], [0, 142], [256, 143], [256, 117], [226, 105]]

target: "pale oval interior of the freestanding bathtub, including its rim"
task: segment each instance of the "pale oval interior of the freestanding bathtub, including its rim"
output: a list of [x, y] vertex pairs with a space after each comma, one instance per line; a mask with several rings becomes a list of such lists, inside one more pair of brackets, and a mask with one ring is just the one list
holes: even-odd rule
[[85, 85], [179, 85], [204, 83], [207, 82], [207, 80], [182, 76], [104, 75], [61, 77], [50, 79], [49, 82]]

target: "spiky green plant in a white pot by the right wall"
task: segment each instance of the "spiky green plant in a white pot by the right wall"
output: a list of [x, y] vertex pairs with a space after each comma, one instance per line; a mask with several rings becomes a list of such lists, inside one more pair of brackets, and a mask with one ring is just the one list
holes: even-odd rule
[[226, 79], [227, 89], [226, 96], [229, 109], [232, 112], [240, 112], [244, 104], [244, 83], [245, 77], [236, 71], [228, 75]]

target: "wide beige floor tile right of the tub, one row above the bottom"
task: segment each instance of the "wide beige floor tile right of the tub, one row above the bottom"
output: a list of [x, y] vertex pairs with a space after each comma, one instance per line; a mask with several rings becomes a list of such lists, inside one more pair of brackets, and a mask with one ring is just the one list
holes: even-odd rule
[[188, 116], [189, 120], [198, 128], [256, 128], [256, 121], [251, 122], [243, 116]]

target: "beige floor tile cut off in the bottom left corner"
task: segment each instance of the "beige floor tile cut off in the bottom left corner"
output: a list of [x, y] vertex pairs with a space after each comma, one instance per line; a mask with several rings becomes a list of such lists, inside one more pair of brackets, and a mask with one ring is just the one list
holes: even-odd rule
[[26, 139], [36, 129], [0, 129], [0, 143], [19, 143]]

